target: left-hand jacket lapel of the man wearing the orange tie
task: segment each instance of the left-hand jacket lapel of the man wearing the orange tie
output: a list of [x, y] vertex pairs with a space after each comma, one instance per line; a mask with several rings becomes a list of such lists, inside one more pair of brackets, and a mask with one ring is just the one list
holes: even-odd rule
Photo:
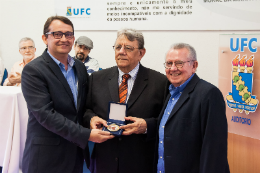
[[117, 66], [112, 67], [112, 68], [113, 69], [112, 69], [112, 72], [110, 73], [109, 81], [108, 81], [109, 92], [110, 92], [112, 101], [119, 102], [118, 70], [117, 70]]

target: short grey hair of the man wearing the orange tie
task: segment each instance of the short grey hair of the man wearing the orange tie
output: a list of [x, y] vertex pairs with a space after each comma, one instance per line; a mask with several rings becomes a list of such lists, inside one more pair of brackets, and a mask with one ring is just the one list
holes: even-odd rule
[[135, 29], [130, 29], [130, 28], [125, 28], [117, 31], [117, 39], [120, 36], [126, 36], [126, 38], [129, 41], [135, 41], [137, 40], [138, 42], [138, 48], [139, 49], [144, 49], [144, 36], [141, 32], [135, 30]]

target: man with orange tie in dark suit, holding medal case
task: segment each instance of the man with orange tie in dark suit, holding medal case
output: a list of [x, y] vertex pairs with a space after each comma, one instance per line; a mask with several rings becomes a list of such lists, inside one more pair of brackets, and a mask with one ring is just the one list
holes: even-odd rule
[[88, 110], [84, 121], [91, 128], [107, 126], [108, 103], [120, 101], [119, 85], [122, 76], [129, 74], [128, 117], [125, 119], [130, 123], [121, 126], [125, 130], [121, 137], [95, 145], [92, 154], [95, 172], [151, 173], [156, 119], [163, 106], [167, 78], [139, 63], [145, 54], [142, 33], [132, 29], [118, 31], [114, 49], [117, 66], [90, 76]]

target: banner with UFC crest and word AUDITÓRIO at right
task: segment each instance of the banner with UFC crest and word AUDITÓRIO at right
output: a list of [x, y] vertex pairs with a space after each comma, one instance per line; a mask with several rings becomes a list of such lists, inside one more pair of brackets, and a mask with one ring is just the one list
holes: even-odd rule
[[260, 139], [260, 34], [221, 35], [218, 65], [228, 131]]

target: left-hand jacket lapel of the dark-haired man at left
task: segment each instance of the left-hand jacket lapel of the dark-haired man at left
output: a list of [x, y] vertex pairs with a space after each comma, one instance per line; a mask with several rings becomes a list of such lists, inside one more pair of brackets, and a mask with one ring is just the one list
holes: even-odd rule
[[50, 57], [50, 55], [47, 53], [47, 49], [43, 53], [43, 58], [46, 61], [46, 63], [49, 65], [50, 69], [54, 73], [54, 75], [57, 77], [57, 79], [62, 83], [65, 90], [67, 91], [73, 105], [74, 105], [74, 99], [73, 94], [71, 92], [70, 86], [65, 79], [64, 75], [62, 74], [60, 67], [53, 61], [53, 59]]

